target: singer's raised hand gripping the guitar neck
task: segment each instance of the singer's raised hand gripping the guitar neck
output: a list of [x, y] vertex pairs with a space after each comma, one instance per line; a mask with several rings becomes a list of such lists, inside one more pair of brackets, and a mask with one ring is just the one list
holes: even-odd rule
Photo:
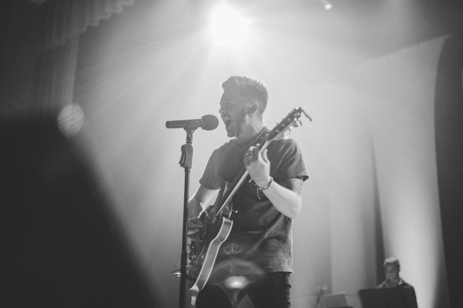
[[260, 153], [260, 145], [250, 147], [244, 155], [244, 165], [257, 186], [265, 187], [270, 183], [270, 161], [267, 150]]

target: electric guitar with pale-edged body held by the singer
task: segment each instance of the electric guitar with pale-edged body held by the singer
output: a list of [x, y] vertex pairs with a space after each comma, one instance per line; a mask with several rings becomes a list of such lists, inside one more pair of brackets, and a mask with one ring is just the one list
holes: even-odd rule
[[[266, 134], [265, 144], [261, 146], [260, 151], [263, 152], [270, 142], [280, 138], [291, 127], [297, 127], [297, 124], [300, 124], [301, 113], [306, 114], [306, 117], [310, 119], [302, 108], [293, 109], [286, 118], [283, 118], [277, 126]], [[312, 119], [310, 120], [312, 121]], [[247, 176], [248, 171], [244, 167], [233, 183], [227, 183], [220, 190], [216, 203], [210, 206], [212, 207], [211, 211], [203, 211], [201, 214], [203, 226], [188, 245], [186, 281], [190, 290], [201, 291], [209, 279], [220, 246], [227, 239], [233, 226], [233, 221], [230, 219], [232, 213], [231, 198]]]

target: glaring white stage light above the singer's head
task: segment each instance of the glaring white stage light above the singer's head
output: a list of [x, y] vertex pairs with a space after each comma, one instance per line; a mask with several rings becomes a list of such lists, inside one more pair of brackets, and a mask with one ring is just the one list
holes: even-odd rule
[[246, 42], [249, 24], [237, 11], [222, 4], [212, 12], [210, 32], [216, 44], [237, 48]]

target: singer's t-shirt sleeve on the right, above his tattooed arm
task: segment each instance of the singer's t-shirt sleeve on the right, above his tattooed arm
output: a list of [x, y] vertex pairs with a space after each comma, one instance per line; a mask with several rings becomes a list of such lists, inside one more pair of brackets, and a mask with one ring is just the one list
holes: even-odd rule
[[305, 181], [309, 178], [306, 163], [296, 140], [285, 139], [279, 152], [277, 177], [280, 180], [301, 178]]

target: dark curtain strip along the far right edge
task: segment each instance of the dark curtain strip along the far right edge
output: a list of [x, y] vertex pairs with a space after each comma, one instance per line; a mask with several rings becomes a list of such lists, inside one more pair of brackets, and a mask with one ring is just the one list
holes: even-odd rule
[[463, 34], [442, 49], [436, 80], [435, 127], [439, 202], [452, 307], [463, 303]]

